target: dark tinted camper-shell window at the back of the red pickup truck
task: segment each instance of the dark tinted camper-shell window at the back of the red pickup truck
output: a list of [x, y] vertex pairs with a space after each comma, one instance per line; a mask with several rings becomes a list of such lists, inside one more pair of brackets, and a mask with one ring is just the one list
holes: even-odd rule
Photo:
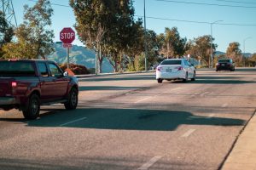
[[34, 77], [35, 70], [31, 62], [0, 61], [0, 76]]

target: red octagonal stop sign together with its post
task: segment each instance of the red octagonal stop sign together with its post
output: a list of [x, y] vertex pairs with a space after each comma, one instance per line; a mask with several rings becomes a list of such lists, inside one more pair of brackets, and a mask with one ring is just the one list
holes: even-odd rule
[[65, 27], [60, 32], [60, 40], [63, 42], [63, 47], [67, 48], [67, 68], [69, 68], [69, 48], [72, 47], [72, 42], [75, 39], [75, 32], [70, 27]]

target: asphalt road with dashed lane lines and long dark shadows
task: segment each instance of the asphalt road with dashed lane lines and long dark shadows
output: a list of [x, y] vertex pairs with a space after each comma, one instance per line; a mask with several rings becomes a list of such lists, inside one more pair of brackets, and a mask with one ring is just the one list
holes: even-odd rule
[[79, 107], [0, 111], [0, 169], [217, 170], [256, 107], [256, 69], [79, 79]]

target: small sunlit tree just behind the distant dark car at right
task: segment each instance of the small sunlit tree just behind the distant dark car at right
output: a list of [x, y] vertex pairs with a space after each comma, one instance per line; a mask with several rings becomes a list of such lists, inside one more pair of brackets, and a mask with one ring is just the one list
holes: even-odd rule
[[227, 48], [226, 54], [230, 59], [236, 62], [237, 66], [242, 66], [243, 57], [241, 54], [241, 49], [239, 42], [230, 42]]

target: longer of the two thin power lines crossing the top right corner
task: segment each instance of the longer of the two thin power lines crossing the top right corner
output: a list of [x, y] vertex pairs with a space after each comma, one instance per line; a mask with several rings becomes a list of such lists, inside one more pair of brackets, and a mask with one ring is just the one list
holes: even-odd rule
[[186, 3], [186, 4], [195, 4], [195, 5], [208, 5], [208, 6], [218, 6], [218, 7], [232, 7], [232, 8], [256, 8], [249, 6], [241, 6], [241, 5], [225, 5], [225, 4], [217, 4], [217, 3], [192, 3], [192, 2], [184, 2], [184, 1], [172, 1], [172, 0], [154, 0], [154, 1], [162, 1], [166, 3]]

